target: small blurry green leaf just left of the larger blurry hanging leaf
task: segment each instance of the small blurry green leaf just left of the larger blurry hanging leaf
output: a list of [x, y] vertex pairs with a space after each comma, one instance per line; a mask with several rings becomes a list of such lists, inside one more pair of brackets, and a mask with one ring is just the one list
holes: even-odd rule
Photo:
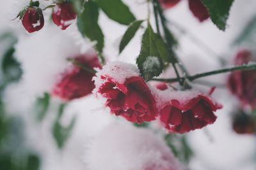
[[50, 95], [45, 93], [43, 97], [38, 97], [35, 103], [35, 113], [36, 113], [36, 120], [41, 122], [45, 117], [50, 104]]

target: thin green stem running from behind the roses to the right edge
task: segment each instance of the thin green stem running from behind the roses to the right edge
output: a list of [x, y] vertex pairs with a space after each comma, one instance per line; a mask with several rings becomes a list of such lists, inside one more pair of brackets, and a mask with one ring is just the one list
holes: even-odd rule
[[[186, 77], [181, 77], [182, 81], [185, 79], [188, 79], [189, 81], [193, 81], [197, 78], [202, 78], [205, 76], [212, 76], [214, 74], [221, 74], [221, 73], [227, 73], [227, 72], [233, 72], [233, 71], [243, 71], [243, 70], [256, 70], [256, 64], [249, 64], [249, 65], [243, 65], [243, 66], [236, 66], [236, 67], [229, 67], [229, 68], [224, 68], [224, 69], [218, 69], [214, 71], [209, 71], [205, 73], [199, 73], [195, 74], [193, 76], [186, 76]], [[164, 82], [176, 82], [180, 81], [178, 78], [153, 78], [152, 80], [154, 81], [164, 81]]]

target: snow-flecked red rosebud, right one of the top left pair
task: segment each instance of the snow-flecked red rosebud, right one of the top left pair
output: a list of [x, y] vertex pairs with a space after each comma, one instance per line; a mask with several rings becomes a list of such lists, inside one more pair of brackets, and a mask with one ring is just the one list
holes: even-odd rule
[[67, 29], [74, 19], [76, 19], [76, 12], [73, 10], [71, 3], [61, 3], [54, 7], [52, 21], [60, 26], [62, 30]]

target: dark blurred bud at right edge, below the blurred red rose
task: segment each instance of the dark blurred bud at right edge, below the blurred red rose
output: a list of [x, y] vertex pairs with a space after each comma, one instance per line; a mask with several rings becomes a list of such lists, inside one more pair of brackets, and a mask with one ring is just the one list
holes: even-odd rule
[[237, 134], [254, 134], [256, 131], [256, 124], [253, 117], [246, 113], [236, 113], [232, 122], [233, 130]]

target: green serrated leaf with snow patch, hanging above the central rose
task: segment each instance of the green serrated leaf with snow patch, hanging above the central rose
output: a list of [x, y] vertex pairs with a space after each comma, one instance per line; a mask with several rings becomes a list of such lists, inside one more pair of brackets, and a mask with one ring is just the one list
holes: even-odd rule
[[136, 62], [146, 81], [154, 76], [159, 76], [163, 71], [164, 64], [175, 62], [172, 52], [164, 43], [163, 38], [152, 30], [150, 24], [143, 34], [141, 51]]

